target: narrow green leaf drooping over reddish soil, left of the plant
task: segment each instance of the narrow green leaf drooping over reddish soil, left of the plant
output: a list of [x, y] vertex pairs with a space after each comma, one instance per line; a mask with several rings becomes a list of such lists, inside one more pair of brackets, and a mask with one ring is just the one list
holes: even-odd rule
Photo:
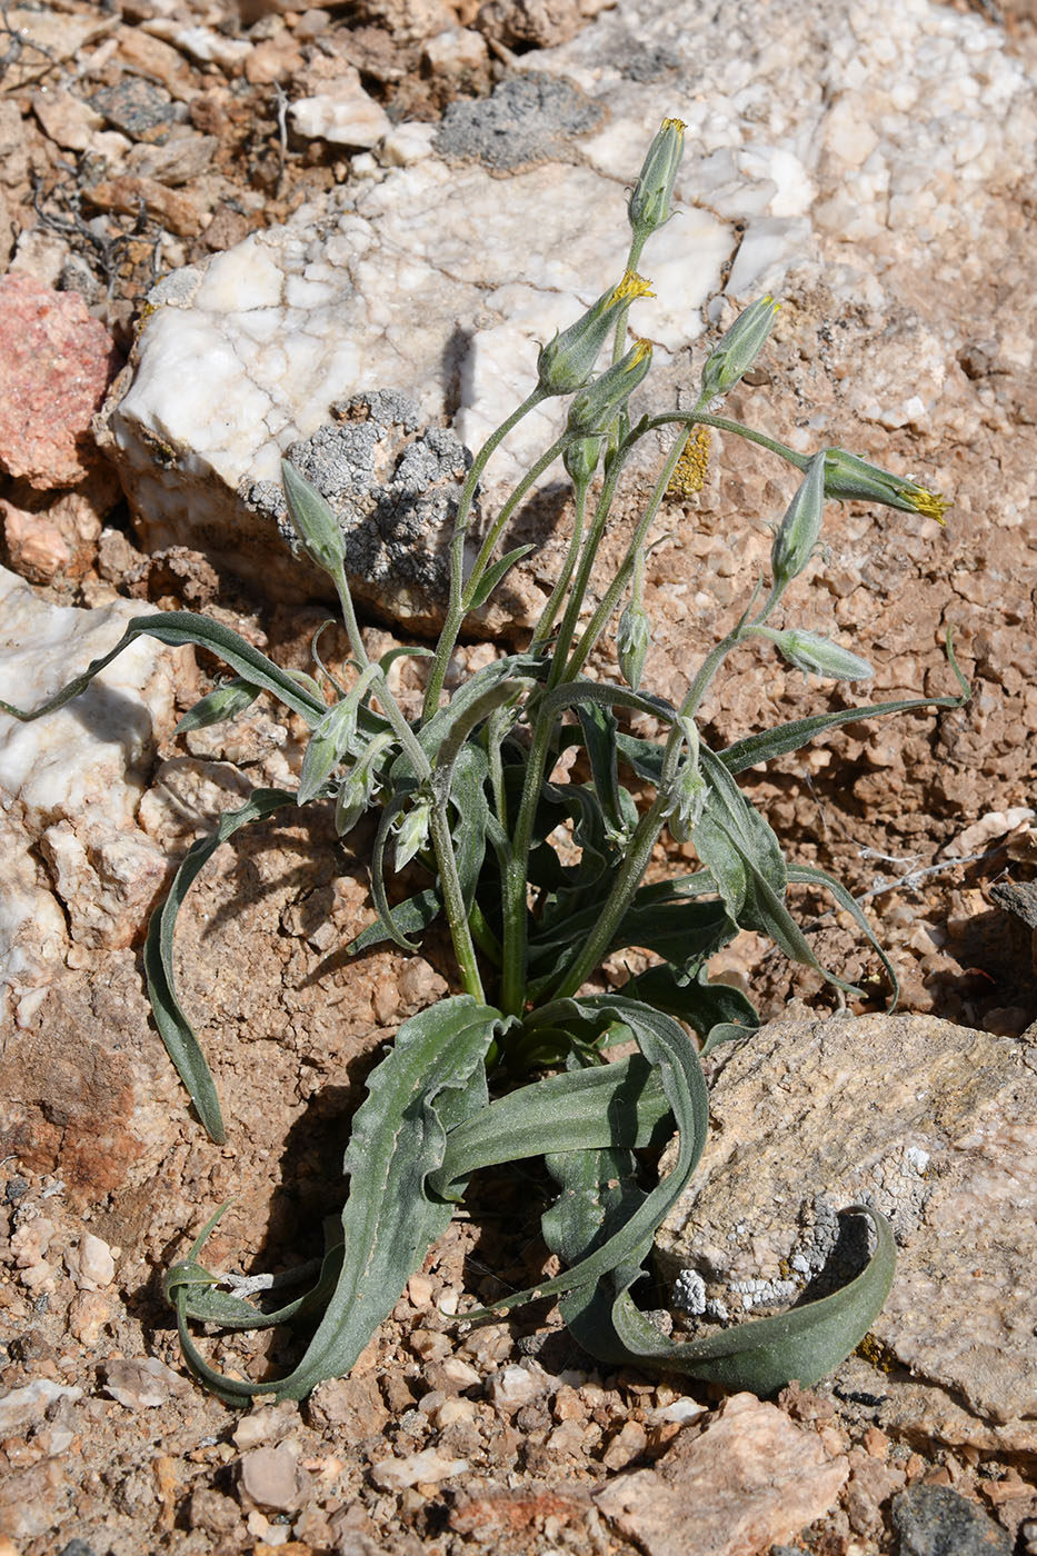
[[216, 1145], [223, 1145], [226, 1141], [220, 1099], [216, 1097], [209, 1064], [195, 1036], [195, 1029], [184, 1015], [176, 994], [173, 972], [176, 915], [184, 904], [195, 876], [221, 843], [226, 843], [229, 837], [240, 831], [240, 828], [248, 826], [249, 822], [258, 822], [265, 815], [272, 815], [274, 811], [294, 803], [294, 794], [288, 794], [283, 789], [255, 789], [240, 809], [224, 812], [220, 817], [216, 829], [209, 837], [201, 837], [196, 843], [192, 843], [187, 850], [179, 870], [173, 876], [168, 896], [154, 910], [148, 924], [143, 965], [154, 1022], [165, 1043], [167, 1053], [176, 1064], [179, 1077], [190, 1092], [198, 1117]]

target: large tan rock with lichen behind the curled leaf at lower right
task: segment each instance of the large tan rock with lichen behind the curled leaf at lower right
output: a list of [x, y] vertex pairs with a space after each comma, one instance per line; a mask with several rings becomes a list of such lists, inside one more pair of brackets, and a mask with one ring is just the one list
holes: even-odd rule
[[1032, 1043], [791, 1016], [718, 1067], [699, 1172], [659, 1234], [679, 1296], [713, 1318], [788, 1307], [849, 1257], [838, 1212], [875, 1204], [898, 1243], [877, 1340], [990, 1422], [1037, 1416]]

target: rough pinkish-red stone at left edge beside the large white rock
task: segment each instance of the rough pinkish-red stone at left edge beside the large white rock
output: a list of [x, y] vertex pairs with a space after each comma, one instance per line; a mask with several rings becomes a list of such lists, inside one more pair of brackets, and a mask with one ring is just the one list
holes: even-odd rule
[[0, 279], [0, 465], [39, 492], [81, 481], [97, 461], [90, 423], [121, 367], [76, 293], [16, 271]]

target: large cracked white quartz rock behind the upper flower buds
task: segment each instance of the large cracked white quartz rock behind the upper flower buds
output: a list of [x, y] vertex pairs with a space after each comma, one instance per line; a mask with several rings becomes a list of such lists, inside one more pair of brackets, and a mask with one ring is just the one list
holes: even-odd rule
[[[176, 272], [111, 412], [145, 545], [196, 545], [265, 590], [313, 593], [240, 489], [277, 481], [283, 451], [367, 387], [403, 391], [433, 423], [459, 387], [453, 425], [478, 447], [529, 392], [539, 345], [620, 279], [627, 241], [620, 180], [557, 163], [501, 180], [428, 156], [332, 224], [272, 227]], [[701, 333], [730, 252], [705, 212], [659, 235], [659, 300], [632, 322], [663, 356]], [[554, 440], [561, 414], [553, 401], [526, 419], [490, 489]]]

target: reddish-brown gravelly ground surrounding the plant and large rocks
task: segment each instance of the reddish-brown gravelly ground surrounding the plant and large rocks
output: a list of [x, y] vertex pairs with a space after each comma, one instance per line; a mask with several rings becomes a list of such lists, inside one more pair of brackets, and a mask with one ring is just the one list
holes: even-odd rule
[[[322, 607], [263, 601], [193, 546], [160, 543], [156, 554], [148, 515], [134, 521], [90, 415], [134, 350], [159, 275], [307, 202], [352, 198], [371, 177], [371, 148], [397, 145], [406, 165], [408, 146], [448, 104], [484, 96], [512, 56], [578, 37], [599, 9], [595, 0], [0, 6], [5, 359], [17, 356], [12, 338], [28, 342], [19, 394], [0, 408], [0, 560], [34, 591], [33, 604], [12, 580], [3, 596], [6, 622], [25, 621], [40, 644], [40, 666], [25, 675], [44, 674], [65, 643], [58, 618], [33, 612], [61, 605], [209, 608], [282, 663], [305, 663]], [[976, 16], [1004, 31], [1009, 59], [1034, 70], [1032, 12]], [[1025, 296], [1032, 194], [998, 179], [998, 268], [973, 282], [962, 261], [961, 291], [940, 280], [961, 328], [950, 409], [928, 440], [909, 414], [872, 419], [841, 389], [859, 355], [897, 345], [898, 331], [922, 387], [933, 373], [928, 338], [912, 333], [911, 310], [933, 313], [923, 265], [903, 271], [897, 317], [833, 302], [819, 272], [802, 272], [744, 411], [779, 436], [817, 405], [863, 412], [863, 453], [898, 457], [898, 468], [936, 465], [956, 498], [947, 532], [842, 510], [805, 624], [852, 632], [891, 697], [953, 689], [939, 641], [954, 626], [970, 708], [877, 733], [850, 725], [813, 756], [754, 773], [751, 790], [794, 857], [866, 899], [898, 968], [902, 1008], [1011, 1043], [1037, 1016], [1037, 543], [1026, 506], [1037, 400]], [[26, 352], [50, 372], [25, 369]], [[59, 403], [54, 361], [67, 363]], [[62, 439], [62, 426], [79, 431]], [[727, 537], [760, 490], [771, 507], [780, 501], [771, 475], [727, 440], [704, 490], [674, 504], [673, 538], [648, 580], [649, 610], [665, 621], [652, 650], [662, 691], [766, 549], [765, 537], [732, 554]], [[551, 537], [548, 571], [553, 548]], [[685, 576], [677, 566], [694, 569], [691, 593], [674, 582]], [[385, 613], [372, 619], [369, 646], [388, 647], [391, 627]], [[464, 652], [478, 663], [498, 649]], [[118, 826], [106, 812], [87, 836], [67, 818], [65, 790], [54, 800], [39, 772], [33, 789], [30, 769], [50, 761], [42, 747], [17, 758], [17, 784], [9, 766], [0, 772], [17, 795], [3, 839], [22, 904], [3, 943], [17, 999], [5, 1016], [0, 1556], [1037, 1550], [1034, 1407], [984, 1413], [961, 1379], [940, 1386], [939, 1369], [919, 1362], [916, 1380], [883, 1346], [814, 1391], [724, 1402], [596, 1371], [553, 1312], [453, 1323], [469, 1299], [542, 1273], [534, 1176], [478, 1186], [349, 1380], [302, 1407], [246, 1414], [185, 1380], [160, 1301], [160, 1273], [182, 1256], [185, 1231], [234, 1195], [213, 1263], [254, 1271], [307, 1257], [335, 1209], [344, 1120], [378, 1046], [445, 990], [434, 943], [428, 960], [341, 957], [369, 909], [363, 854], [335, 853], [327, 817], [310, 811], [246, 837], [202, 876], [181, 932], [185, 999], [232, 1120], [229, 1147], [199, 1141], [148, 1025], [140, 929], [167, 860], [248, 787], [297, 769], [299, 734], [260, 706], [232, 734], [171, 741], [178, 710], [207, 689], [210, 671], [160, 654], [128, 675], [123, 694], [149, 725], [114, 766], [89, 744], [104, 744], [90, 724], [97, 708], [65, 727], [62, 783], [81, 753], [90, 783], [109, 801], [121, 795]], [[406, 680], [402, 689], [416, 691]], [[22, 699], [6, 683], [5, 696]], [[736, 738], [761, 708], [796, 717], [817, 702], [754, 661], [710, 705], [707, 736]], [[671, 864], [659, 859], [660, 870]], [[825, 916], [822, 902], [802, 906], [817, 915], [821, 958], [866, 976], [849, 923]], [[766, 1016], [791, 997], [830, 1008], [819, 980], [752, 937], [724, 969]], [[209, 1341], [223, 1368], [249, 1376], [277, 1366], [290, 1343], [279, 1330]]]

